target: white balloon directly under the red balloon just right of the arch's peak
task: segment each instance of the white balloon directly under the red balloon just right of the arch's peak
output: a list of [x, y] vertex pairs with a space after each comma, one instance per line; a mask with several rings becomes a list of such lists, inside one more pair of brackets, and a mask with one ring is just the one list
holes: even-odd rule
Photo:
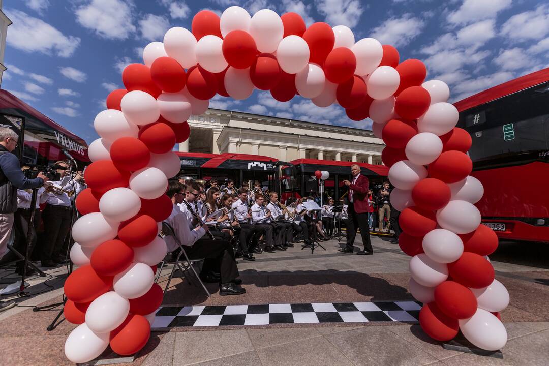
[[280, 68], [288, 74], [297, 74], [309, 63], [309, 45], [299, 36], [284, 37], [278, 44], [276, 58]]

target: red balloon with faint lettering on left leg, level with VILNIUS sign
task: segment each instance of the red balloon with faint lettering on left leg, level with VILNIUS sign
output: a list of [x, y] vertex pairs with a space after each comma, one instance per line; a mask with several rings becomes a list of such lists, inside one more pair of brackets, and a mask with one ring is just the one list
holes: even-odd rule
[[120, 137], [110, 147], [110, 158], [117, 168], [135, 172], [149, 164], [150, 151], [135, 137]]

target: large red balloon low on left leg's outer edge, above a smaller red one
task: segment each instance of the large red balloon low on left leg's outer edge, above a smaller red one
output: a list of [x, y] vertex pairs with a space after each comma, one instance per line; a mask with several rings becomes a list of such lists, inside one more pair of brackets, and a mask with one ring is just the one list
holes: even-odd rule
[[65, 280], [65, 295], [74, 302], [92, 302], [109, 291], [113, 278], [101, 276], [86, 264], [72, 272]]

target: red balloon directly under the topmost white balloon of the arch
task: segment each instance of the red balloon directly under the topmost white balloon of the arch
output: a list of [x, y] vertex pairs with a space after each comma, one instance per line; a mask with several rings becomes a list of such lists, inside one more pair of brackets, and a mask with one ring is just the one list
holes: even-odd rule
[[223, 57], [236, 69], [245, 69], [254, 63], [257, 47], [250, 33], [234, 30], [227, 33], [223, 40]]

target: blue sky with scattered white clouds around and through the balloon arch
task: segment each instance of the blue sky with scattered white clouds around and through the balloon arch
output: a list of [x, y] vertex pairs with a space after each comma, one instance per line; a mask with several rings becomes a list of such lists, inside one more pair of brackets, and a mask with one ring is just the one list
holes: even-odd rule
[[[93, 120], [121, 71], [142, 63], [142, 49], [172, 26], [191, 29], [201, 9], [221, 15], [231, 5], [253, 15], [271, 8], [299, 13], [307, 25], [346, 25], [355, 40], [393, 44], [401, 61], [425, 62], [427, 79], [449, 84], [460, 100], [520, 75], [549, 67], [549, 3], [534, 0], [4, 0], [8, 27], [2, 88], [88, 143]], [[212, 108], [369, 128], [338, 105], [318, 108], [296, 97], [279, 103], [255, 91], [244, 101], [217, 95]]]

